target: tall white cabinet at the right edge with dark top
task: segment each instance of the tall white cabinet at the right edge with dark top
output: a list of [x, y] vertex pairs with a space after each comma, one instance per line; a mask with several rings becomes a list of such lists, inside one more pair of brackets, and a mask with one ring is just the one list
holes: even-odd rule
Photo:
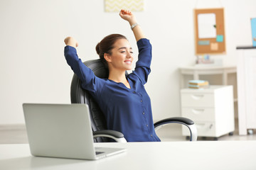
[[256, 47], [237, 49], [239, 135], [247, 135], [256, 129]]

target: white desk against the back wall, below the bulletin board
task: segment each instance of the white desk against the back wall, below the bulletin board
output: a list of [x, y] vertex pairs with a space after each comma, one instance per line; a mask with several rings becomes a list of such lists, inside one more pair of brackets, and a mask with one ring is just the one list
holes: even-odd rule
[[181, 67], [181, 89], [185, 87], [184, 75], [193, 75], [193, 79], [199, 79], [200, 75], [222, 74], [223, 85], [228, 85], [228, 74], [236, 73], [235, 66], [190, 66]]

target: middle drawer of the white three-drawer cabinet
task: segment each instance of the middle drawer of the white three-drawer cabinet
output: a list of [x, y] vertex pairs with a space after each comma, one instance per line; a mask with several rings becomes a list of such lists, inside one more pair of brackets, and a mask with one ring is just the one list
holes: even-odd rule
[[214, 108], [181, 108], [181, 115], [193, 121], [213, 122], [215, 120]]

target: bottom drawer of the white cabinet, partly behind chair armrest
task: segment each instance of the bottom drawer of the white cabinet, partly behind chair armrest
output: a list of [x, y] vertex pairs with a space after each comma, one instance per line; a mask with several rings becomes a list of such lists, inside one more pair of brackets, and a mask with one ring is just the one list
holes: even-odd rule
[[[195, 123], [196, 129], [198, 130], [198, 136], [202, 137], [217, 137], [216, 136], [216, 129], [215, 123]], [[188, 128], [182, 126], [182, 135], [183, 136], [190, 136], [190, 132]]]

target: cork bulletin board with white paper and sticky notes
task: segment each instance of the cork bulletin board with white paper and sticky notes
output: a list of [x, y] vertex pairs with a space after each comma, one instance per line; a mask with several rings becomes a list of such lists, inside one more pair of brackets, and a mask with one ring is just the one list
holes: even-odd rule
[[196, 55], [225, 54], [224, 8], [194, 10]]

